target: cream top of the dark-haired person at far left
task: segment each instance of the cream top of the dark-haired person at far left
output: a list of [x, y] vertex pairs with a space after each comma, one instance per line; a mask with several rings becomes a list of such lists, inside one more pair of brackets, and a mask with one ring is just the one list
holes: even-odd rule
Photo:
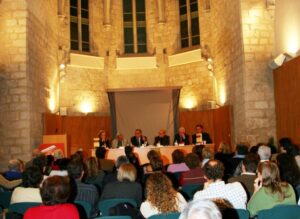
[[40, 195], [39, 188], [24, 188], [17, 187], [14, 189], [10, 204], [19, 202], [39, 202], [42, 203], [42, 198]]

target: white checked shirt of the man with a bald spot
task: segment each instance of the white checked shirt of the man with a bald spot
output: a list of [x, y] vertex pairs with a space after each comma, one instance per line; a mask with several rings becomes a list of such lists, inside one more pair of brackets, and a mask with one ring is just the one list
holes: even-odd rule
[[194, 200], [215, 198], [226, 199], [235, 209], [246, 209], [247, 194], [239, 182], [227, 184], [224, 181], [214, 182], [194, 195]]

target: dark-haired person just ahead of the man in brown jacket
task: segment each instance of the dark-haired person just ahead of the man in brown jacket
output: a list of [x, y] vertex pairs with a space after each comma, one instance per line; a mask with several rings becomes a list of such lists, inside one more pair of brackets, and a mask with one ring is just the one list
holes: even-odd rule
[[248, 146], [246, 144], [238, 144], [236, 146], [235, 155], [230, 160], [232, 166], [231, 175], [239, 176], [242, 173], [242, 161], [248, 153]]

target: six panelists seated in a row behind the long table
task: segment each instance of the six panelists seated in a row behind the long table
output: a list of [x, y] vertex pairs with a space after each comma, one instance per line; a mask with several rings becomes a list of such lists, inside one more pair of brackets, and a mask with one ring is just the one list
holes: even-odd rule
[[[135, 147], [140, 147], [142, 145], [149, 145], [149, 141], [147, 136], [143, 135], [141, 129], [136, 129], [134, 132], [134, 136], [130, 138], [130, 142], [128, 142], [122, 133], [117, 133], [115, 139], [110, 141], [109, 137], [107, 136], [106, 131], [100, 130], [98, 133], [99, 136], [99, 146], [100, 147], [108, 147], [108, 148], [118, 148], [121, 146], [132, 145]], [[203, 142], [210, 144], [212, 140], [207, 132], [204, 132], [203, 125], [199, 124], [195, 127], [195, 133], [192, 135], [192, 142], [190, 142], [190, 136], [186, 133], [184, 127], [180, 127], [178, 129], [178, 133], [174, 136], [173, 144], [202, 144]], [[154, 138], [153, 145], [161, 145], [167, 146], [171, 145], [170, 136], [167, 135], [166, 130], [160, 129], [158, 132], [158, 136]]]

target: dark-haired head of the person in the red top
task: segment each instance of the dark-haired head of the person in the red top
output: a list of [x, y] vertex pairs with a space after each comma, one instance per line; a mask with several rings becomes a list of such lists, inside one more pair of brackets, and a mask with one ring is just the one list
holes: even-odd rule
[[71, 193], [70, 179], [65, 176], [50, 176], [40, 189], [44, 205], [67, 203]]

